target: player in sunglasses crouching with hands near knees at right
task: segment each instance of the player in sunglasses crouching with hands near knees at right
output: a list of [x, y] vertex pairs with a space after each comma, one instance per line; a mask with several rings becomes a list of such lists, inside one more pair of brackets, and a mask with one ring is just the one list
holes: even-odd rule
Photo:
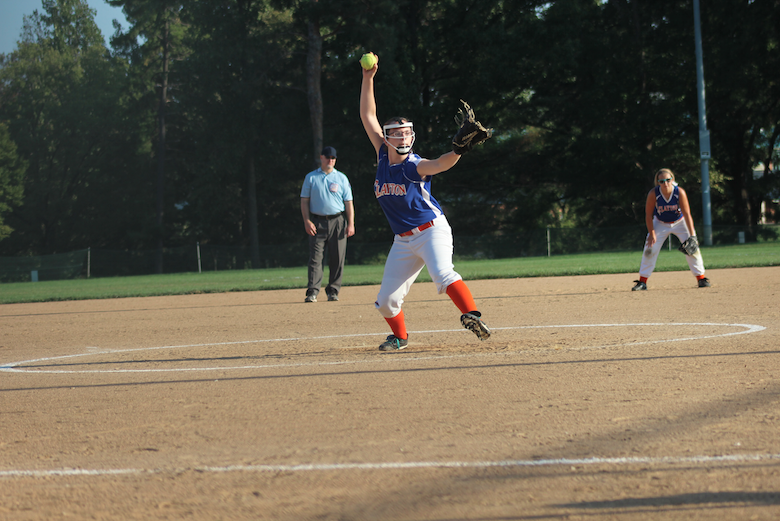
[[655, 188], [647, 194], [645, 203], [645, 223], [648, 233], [642, 264], [639, 267], [639, 280], [634, 281], [636, 285], [631, 291], [647, 289], [647, 279], [655, 269], [658, 254], [669, 234], [680, 239], [680, 251], [685, 253], [688, 266], [699, 287], [710, 287], [709, 279], [704, 276], [704, 259], [696, 239], [696, 229], [693, 227], [688, 194], [677, 185], [674, 173], [668, 168], [662, 168], [655, 173]]

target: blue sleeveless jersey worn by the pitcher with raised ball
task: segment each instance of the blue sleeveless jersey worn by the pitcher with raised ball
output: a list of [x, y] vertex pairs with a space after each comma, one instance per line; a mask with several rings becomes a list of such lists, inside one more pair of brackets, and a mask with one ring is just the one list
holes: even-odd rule
[[420, 156], [411, 152], [402, 163], [390, 165], [387, 145], [382, 145], [378, 159], [374, 195], [393, 233], [407, 232], [442, 215], [431, 195], [431, 176], [423, 180], [417, 173]]

